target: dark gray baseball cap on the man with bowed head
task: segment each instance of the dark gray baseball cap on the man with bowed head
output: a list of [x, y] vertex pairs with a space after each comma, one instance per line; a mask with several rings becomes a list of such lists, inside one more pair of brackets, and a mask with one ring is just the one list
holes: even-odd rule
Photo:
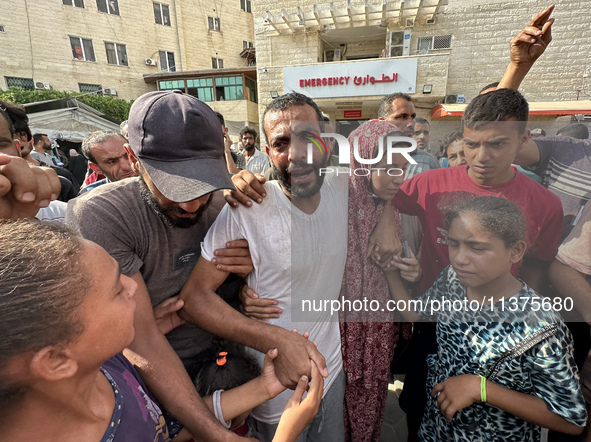
[[171, 201], [234, 189], [220, 120], [192, 95], [174, 90], [139, 97], [129, 111], [128, 140], [154, 185]]

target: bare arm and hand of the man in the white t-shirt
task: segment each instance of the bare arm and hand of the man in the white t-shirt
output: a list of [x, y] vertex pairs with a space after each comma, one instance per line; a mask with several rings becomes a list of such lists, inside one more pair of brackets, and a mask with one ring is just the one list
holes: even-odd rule
[[287, 387], [294, 388], [304, 374], [310, 376], [310, 359], [324, 376], [328, 375], [324, 357], [312, 342], [281, 327], [247, 318], [221, 299], [215, 290], [227, 276], [227, 272], [218, 270], [201, 257], [181, 291], [185, 303], [181, 317], [210, 333], [262, 353], [277, 348], [279, 356], [274, 361], [277, 377]]

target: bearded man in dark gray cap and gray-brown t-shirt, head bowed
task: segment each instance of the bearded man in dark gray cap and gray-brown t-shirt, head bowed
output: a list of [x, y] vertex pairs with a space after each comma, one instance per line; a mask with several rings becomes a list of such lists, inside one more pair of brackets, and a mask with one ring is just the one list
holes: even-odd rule
[[[182, 324], [167, 334], [167, 342], [152, 311], [180, 293], [224, 204], [215, 191], [233, 188], [219, 120], [195, 97], [151, 92], [131, 108], [128, 139], [125, 148], [139, 176], [73, 200], [66, 222], [101, 245], [138, 284], [136, 334], [127, 356], [150, 391], [193, 435], [234, 440], [237, 436], [225, 432], [207, 411], [181, 364], [189, 365], [212, 336]], [[235, 243], [234, 249], [219, 251], [216, 263], [230, 272], [248, 273], [252, 263], [246, 241]], [[227, 295], [222, 291], [222, 298]]]

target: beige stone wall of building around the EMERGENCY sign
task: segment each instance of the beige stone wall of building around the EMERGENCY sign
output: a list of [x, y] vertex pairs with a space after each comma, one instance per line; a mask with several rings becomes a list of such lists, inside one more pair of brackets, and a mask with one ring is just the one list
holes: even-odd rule
[[[370, 6], [374, 3], [378, 4], [370, 1]], [[410, 3], [406, 2], [407, 5]], [[418, 2], [412, 2], [415, 3]], [[422, 2], [426, 3], [433, 1]], [[351, 4], [362, 8], [364, 2], [353, 0]], [[588, 100], [591, 97], [589, 2], [557, 0], [555, 4], [553, 42], [524, 81], [521, 91], [529, 101], [568, 101], [577, 97]], [[271, 100], [270, 91], [289, 92], [283, 85], [284, 67], [322, 63], [323, 50], [328, 48], [325, 37], [335, 26], [324, 21], [328, 24], [318, 27], [313, 19], [310, 20], [314, 5], [317, 5], [317, 11], [330, 7], [329, 2], [320, 3], [317, 0], [259, 0], [255, 3], [260, 113]], [[542, 0], [448, 0], [440, 2], [434, 24], [426, 24], [423, 18], [416, 20], [412, 28], [400, 26], [396, 20], [388, 23], [375, 23], [374, 20], [372, 26], [387, 25], [388, 31], [408, 29], [412, 32], [409, 56], [418, 59], [413, 100], [418, 115], [429, 118], [432, 107], [441, 103], [446, 95], [463, 94], [468, 103], [484, 85], [500, 80], [509, 62], [511, 38], [548, 5]], [[265, 20], [269, 11], [281, 28], [282, 9], [287, 15], [293, 15], [298, 6], [305, 14], [306, 24], [298, 26], [297, 22], [291, 23], [293, 33], [282, 31], [279, 34]], [[347, 2], [334, 2], [335, 10], [346, 6]], [[365, 24], [363, 20], [354, 23], [355, 26]], [[402, 24], [406, 21], [403, 20]], [[431, 50], [428, 54], [420, 54], [417, 50], [419, 37], [445, 34], [453, 35], [451, 49]], [[384, 41], [381, 47], [385, 46]], [[346, 55], [375, 54], [379, 47], [378, 40], [349, 42]], [[334, 44], [330, 48], [334, 49]], [[425, 84], [433, 86], [431, 94], [422, 93]], [[319, 99], [318, 102], [324, 103], [330, 116], [337, 119], [342, 118], [342, 111], [334, 109], [339, 107], [339, 102], [353, 102], [356, 108], [361, 107], [361, 102], [363, 118], [373, 118], [377, 115], [379, 98], [342, 97]], [[369, 109], [366, 111], [366, 108]]]

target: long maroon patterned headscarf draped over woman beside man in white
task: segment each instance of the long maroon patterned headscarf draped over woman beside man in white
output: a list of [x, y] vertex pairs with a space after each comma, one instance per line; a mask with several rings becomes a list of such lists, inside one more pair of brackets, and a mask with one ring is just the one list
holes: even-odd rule
[[[371, 166], [360, 164], [354, 156], [354, 140], [359, 140], [359, 156], [371, 159], [380, 138], [398, 129], [383, 120], [362, 124], [349, 136], [351, 146], [351, 177], [349, 181], [349, 238], [347, 263], [341, 296], [351, 302], [377, 300], [385, 306], [390, 299], [388, 283], [383, 271], [366, 258], [369, 236], [380, 219], [386, 201], [376, 200], [371, 190]], [[386, 144], [384, 143], [384, 151]], [[362, 170], [363, 169], [363, 170]], [[356, 171], [356, 173], [354, 173]], [[396, 219], [399, 220], [398, 211]], [[397, 222], [398, 235], [402, 228]], [[341, 318], [343, 364], [348, 382], [363, 379], [370, 388], [374, 381], [388, 381], [390, 361], [398, 340], [400, 324], [388, 312], [347, 312]]]

